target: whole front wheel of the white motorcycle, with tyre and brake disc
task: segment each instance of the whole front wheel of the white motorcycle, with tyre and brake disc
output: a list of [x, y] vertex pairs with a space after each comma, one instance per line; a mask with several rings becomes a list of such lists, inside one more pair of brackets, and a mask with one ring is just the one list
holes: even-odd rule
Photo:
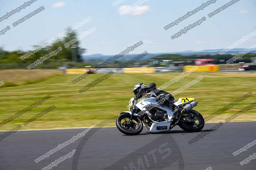
[[138, 116], [132, 117], [132, 122], [129, 122], [131, 115], [123, 113], [116, 119], [116, 127], [125, 135], [138, 135], [143, 129], [143, 124]]

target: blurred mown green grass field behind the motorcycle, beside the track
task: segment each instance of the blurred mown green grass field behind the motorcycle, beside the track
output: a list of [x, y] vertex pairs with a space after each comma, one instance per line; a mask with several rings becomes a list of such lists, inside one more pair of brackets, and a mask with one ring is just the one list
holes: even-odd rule
[[[10, 130], [18, 124], [22, 125], [21, 130], [89, 127], [103, 120], [105, 120], [104, 124], [115, 126], [116, 117], [120, 112], [127, 111], [126, 106], [130, 98], [133, 97], [132, 88], [135, 84], [155, 82], [157, 86], [161, 86], [180, 74], [114, 74], [83, 93], [79, 93], [78, 90], [103, 75], [90, 75], [75, 85], [71, 81], [80, 75], [50, 76], [48, 79], [44, 78], [44, 81], [38, 81], [36, 84], [28, 83], [28, 85], [0, 88], [1, 121], [48, 94], [52, 97], [42, 105], [0, 127], [0, 130]], [[256, 101], [256, 74], [254, 73], [195, 72], [170, 85], [165, 91], [175, 91], [200, 75], [204, 77], [203, 80], [174, 97], [175, 100], [180, 97], [195, 97], [198, 102], [195, 109], [204, 117], [213, 114], [248, 92], [253, 93], [243, 102], [234, 105], [233, 108], [226, 110], [208, 122], [224, 121], [231, 114], [235, 114], [240, 109]], [[29, 80], [27, 79], [26, 81]], [[27, 126], [23, 125], [23, 122], [27, 119], [51, 105], [55, 105], [56, 109]], [[253, 108], [233, 121], [256, 120], [255, 111], [256, 108]], [[98, 126], [101, 126], [101, 124]]]

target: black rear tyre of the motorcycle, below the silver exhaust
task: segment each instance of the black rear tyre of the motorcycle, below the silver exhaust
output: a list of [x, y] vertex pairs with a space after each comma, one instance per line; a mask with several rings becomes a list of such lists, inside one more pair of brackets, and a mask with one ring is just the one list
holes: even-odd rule
[[199, 112], [191, 109], [187, 112], [187, 114], [195, 115], [198, 122], [183, 122], [184, 120], [186, 120], [186, 115], [182, 115], [181, 121], [179, 122], [179, 126], [181, 129], [185, 130], [186, 132], [199, 132], [204, 128], [204, 117]]

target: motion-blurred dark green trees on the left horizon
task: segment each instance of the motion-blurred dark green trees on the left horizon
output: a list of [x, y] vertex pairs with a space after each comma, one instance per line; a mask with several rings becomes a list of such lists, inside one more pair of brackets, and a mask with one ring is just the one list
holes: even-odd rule
[[[52, 57], [45, 60], [43, 63], [38, 64], [36, 68], [58, 68], [63, 64], [62, 59], [67, 59], [67, 62], [71, 62], [72, 50], [75, 50], [77, 62], [82, 62], [83, 60], [81, 58], [81, 55], [86, 51], [86, 49], [81, 48], [79, 46], [79, 41], [76, 41], [74, 43], [75, 48], [71, 48], [71, 46], [65, 48], [64, 46], [65, 43], [72, 41], [77, 36], [78, 35], [76, 31], [67, 33], [63, 38], [60, 38], [59, 40], [52, 42], [52, 44], [49, 44], [47, 47], [42, 48], [41, 50], [37, 51], [34, 55], [30, 55], [24, 60], [21, 60], [20, 57], [22, 55], [27, 54], [29, 51], [4, 51], [3, 48], [0, 48], [0, 69], [27, 69], [27, 66], [29, 64], [34, 63], [37, 59], [40, 59], [44, 55], [52, 53], [59, 47], [61, 47], [62, 50], [58, 54], [53, 55]], [[35, 49], [38, 46], [33, 46], [33, 49]]]

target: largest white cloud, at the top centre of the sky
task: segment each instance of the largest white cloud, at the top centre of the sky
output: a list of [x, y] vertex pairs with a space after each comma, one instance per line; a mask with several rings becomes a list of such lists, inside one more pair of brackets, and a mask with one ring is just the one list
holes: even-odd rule
[[118, 8], [120, 15], [142, 15], [150, 10], [150, 6], [136, 6], [132, 8], [131, 5], [122, 5]]

